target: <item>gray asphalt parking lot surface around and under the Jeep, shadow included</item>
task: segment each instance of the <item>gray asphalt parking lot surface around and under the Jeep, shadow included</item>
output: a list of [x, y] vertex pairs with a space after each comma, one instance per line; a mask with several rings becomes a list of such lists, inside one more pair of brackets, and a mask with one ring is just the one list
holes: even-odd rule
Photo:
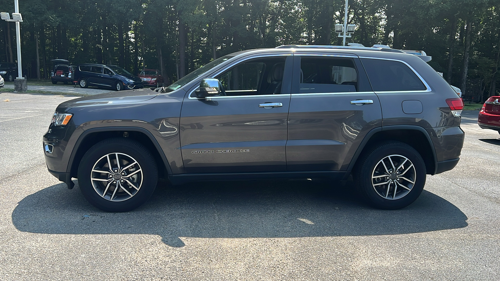
[[455, 169], [400, 210], [290, 180], [161, 184], [106, 213], [46, 170], [41, 136], [70, 98], [0, 94], [0, 280], [498, 279], [500, 135], [478, 111]]

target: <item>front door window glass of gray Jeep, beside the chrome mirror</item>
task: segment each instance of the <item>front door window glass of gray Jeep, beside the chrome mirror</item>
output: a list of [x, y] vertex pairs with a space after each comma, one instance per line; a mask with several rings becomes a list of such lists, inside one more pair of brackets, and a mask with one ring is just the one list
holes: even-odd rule
[[285, 57], [270, 56], [245, 60], [217, 78], [229, 96], [281, 93]]

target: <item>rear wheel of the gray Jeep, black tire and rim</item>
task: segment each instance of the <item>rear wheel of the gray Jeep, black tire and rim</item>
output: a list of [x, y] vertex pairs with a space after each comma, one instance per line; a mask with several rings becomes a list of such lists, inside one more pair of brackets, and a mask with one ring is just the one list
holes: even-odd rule
[[[397, 169], [404, 158], [406, 158], [406, 162], [397, 170], [400, 174], [396, 175], [390, 161]], [[387, 162], [387, 168], [383, 167], [382, 160]], [[407, 165], [407, 160], [413, 164], [414, 169], [411, 169], [411, 165]], [[372, 178], [372, 176], [376, 178]], [[407, 181], [406, 177], [413, 180], [414, 183]], [[356, 163], [353, 178], [356, 189], [368, 204], [380, 209], [399, 209], [411, 204], [422, 192], [426, 178], [425, 163], [420, 154], [406, 143], [399, 141], [378, 142], [360, 157]], [[383, 184], [383, 182], [389, 181], [389, 184]], [[396, 187], [394, 188], [392, 184]], [[401, 185], [409, 187], [410, 190]]]

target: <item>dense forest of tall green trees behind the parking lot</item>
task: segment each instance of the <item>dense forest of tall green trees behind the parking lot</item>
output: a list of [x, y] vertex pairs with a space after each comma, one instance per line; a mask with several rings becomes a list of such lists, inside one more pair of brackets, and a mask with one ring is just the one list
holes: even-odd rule
[[[13, 12], [13, 0], [0, 0]], [[213, 58], [282, 44], [341, 44], [344, 0], [19, 0], [23, 72], [50, 59], [157, 68], [169, 82]], [[349, 0], [347, 42], [424, 50], [464, 95], [500, 80], [500, 0]], [[0, 60], [16, 61], [15, 25], [0, 23]], [[167, 82], [168, 82], [167, 81]]]

